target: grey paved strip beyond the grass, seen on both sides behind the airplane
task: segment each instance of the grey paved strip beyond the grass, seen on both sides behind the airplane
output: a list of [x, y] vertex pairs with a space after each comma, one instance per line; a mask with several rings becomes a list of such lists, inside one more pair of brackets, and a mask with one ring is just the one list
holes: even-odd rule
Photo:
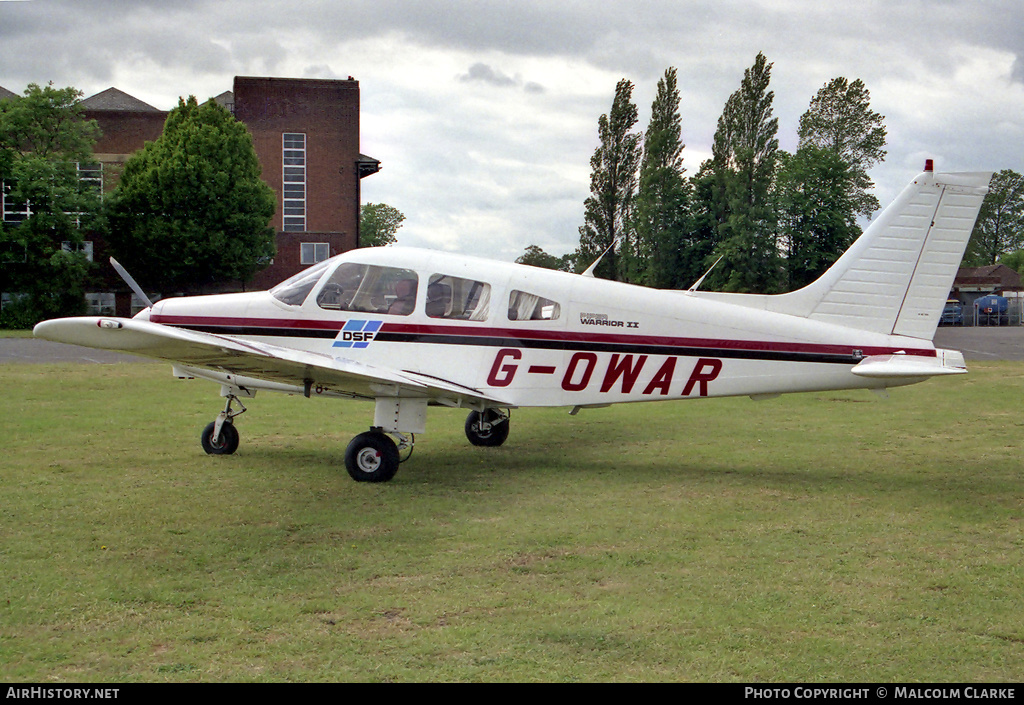
[[[963, 350], [968, 360], [1024, 361], [1024, 327], [940, 328], [935, 344]], [[35, 338], [0, 338], [3, 363], [133, 363], [144, 358]]]

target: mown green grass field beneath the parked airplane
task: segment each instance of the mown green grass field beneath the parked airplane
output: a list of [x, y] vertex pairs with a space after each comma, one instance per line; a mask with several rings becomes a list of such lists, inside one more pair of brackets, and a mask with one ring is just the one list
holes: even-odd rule
[[0, 680], [1024, 679], [1024, 366], [894, 389], [464, 413], [386, 485], [369, 404], [0, 366]]

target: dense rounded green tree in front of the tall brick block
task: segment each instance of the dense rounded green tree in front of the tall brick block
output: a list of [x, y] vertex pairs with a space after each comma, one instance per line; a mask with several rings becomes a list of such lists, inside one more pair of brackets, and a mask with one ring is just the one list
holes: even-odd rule
[[274, 208], [245, 126], [191, 96], [125, 164], [110, 245], [138, 281], [165, 292], [246, 282], [274, 254]]

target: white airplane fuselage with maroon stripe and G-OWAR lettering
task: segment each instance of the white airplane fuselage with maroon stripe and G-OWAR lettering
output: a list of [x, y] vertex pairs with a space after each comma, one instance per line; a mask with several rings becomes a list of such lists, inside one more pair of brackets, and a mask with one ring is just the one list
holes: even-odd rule
[[429, 250], [354, 250], [307, 273], [269, 292], [164, 299], [148, 318], [415, 372], [508, 406], [892, 386], [916, 380], [851, 369], [935, 356], [918, 338]]

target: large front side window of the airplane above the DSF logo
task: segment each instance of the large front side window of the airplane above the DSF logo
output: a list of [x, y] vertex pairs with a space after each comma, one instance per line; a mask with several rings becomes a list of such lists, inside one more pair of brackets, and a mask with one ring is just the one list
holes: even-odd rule
[[345, 262], [324, 284], [316, 303], [332, 310], [409, 316], [418, 282], [412, 269]]

